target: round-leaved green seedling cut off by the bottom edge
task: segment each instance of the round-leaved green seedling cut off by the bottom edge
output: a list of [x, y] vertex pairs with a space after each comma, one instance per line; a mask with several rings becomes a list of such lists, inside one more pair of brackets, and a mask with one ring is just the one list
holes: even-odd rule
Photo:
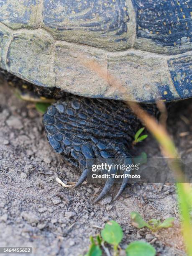
[[[122, 228], [116, 221], [110, 220], [105, 224], [101, 234], [97, 235], [96, 241], [92, 236], [90, 237], [90, 249], [85, 256], [101, 256], [101, 246], [105, 249], [105, 253], [107, 252], [107, 255], [110, 255], [110, 252], [108, 248], [105, 247], [104, 243], [108, 243], [113, 246], [113, 256], [119, 256], [119, 250], [123, 252], [119, 246], [122, 238]], [[154, 256], [156, 254], [156, 250], [149, 243], [134, 241], [127, 246], [124, 253], [126, 256]]]

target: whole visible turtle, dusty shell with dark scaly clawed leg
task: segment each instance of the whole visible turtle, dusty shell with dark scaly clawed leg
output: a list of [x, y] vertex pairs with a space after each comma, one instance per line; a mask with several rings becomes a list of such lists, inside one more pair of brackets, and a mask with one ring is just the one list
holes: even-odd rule
[[0, 1], [1, 73], [24, 99], [55, 100], [44, 114], [46, 136], [81, 169], [76, 187], [87, 159], [131, 159], [141, 123], [124, 101], [155, 114], [157, 99], [192, 97], [191, 20], [192, 0]]

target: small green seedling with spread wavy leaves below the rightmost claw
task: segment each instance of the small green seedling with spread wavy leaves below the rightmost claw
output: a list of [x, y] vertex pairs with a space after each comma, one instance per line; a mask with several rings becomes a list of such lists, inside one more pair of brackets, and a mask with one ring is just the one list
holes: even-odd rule
[[152, 231], [157, 231], [160, 228], [170, 228], [174, 224], [174, 218], [166, 218], [163, 222], [156, 219], [151, 219], [148, 222], [143, 220], [141, 215], [138, 212], [131, 212], [131, 219], [133, 220], [132, 225], [136, 228], [144, 228], [147, 227]]

